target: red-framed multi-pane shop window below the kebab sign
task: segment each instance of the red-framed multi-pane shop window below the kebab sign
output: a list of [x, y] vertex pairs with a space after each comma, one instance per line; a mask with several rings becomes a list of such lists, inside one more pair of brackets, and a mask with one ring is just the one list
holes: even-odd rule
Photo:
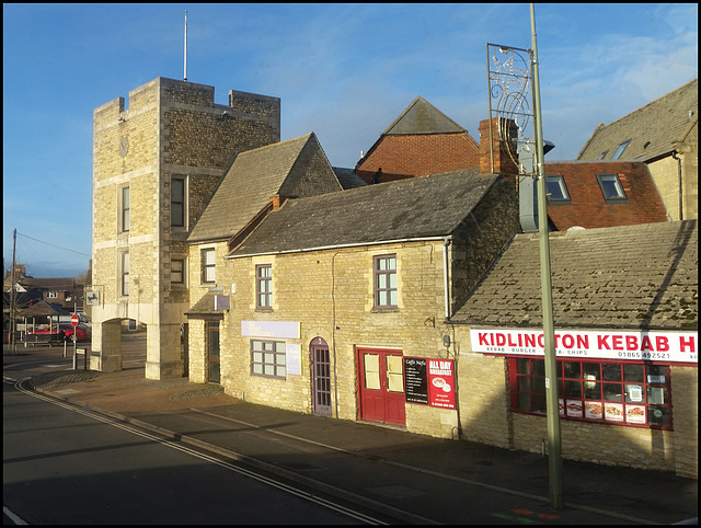
[[[545, 414], [543, 359], [510, 358], [512, 410]], [[671, 428], [669, 368], [558, 360], [560, 416], [632, 427]]]

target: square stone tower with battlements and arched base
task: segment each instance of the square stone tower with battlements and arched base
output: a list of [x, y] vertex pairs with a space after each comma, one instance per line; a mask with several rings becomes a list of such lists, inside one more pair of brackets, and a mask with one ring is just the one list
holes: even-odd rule
[[158, 78], [93, 113], [91, 367], [122, 369], [122, 322], [147, 329], [146, 378], [183, 376], [189, 230], [237, 152], [280, 140], [277, 97]]

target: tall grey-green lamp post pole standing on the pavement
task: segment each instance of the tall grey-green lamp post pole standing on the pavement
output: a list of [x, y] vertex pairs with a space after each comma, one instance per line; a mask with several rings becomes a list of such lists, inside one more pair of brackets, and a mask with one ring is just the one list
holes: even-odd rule
[[540, 285], [543, 307], [543, 335], [545, 344], [545, 409], [548, 416], [548, 462], [550, 470], [550, 503], [555, 509], [564, 507], [562, 479], [562, 444], [560, 435], [560, 406], [558, 402], [558, 360], [555, 358], [555, 332], [552, 310], [552, 284], [550, 275], [550, 240], [548, 238], [548, 204], [543, 161], [543, 133], [540, 108], [540, 78], [538, 72], [538, 45], [536, 43], [536, 12], [530, 4], [533, 72], [533, 128], [536, 131], [536, 168], [538, 173], [538, 233], [540, 240]]

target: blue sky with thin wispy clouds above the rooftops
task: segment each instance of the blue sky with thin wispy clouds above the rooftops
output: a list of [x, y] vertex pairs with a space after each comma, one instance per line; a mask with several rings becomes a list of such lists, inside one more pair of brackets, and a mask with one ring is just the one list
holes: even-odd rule
[[[528, 3], [3, 4], [3, 256], [35, 277], [88, 269], [92, 112], [157, 77], [281, 100], [281, 139], [310, 131], [355, 167], [421, 95], [479, 140], [486, 43], [531, 47]], [[549, 160], [698, 77], [698, 5], [536, 4]]]

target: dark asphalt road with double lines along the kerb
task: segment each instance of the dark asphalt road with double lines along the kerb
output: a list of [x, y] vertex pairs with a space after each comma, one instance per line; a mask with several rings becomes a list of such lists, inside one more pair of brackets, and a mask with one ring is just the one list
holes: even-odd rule
[[9, 380], [72, 363], [46, 348], [3, 358], [3, 524], [391, 523]]

